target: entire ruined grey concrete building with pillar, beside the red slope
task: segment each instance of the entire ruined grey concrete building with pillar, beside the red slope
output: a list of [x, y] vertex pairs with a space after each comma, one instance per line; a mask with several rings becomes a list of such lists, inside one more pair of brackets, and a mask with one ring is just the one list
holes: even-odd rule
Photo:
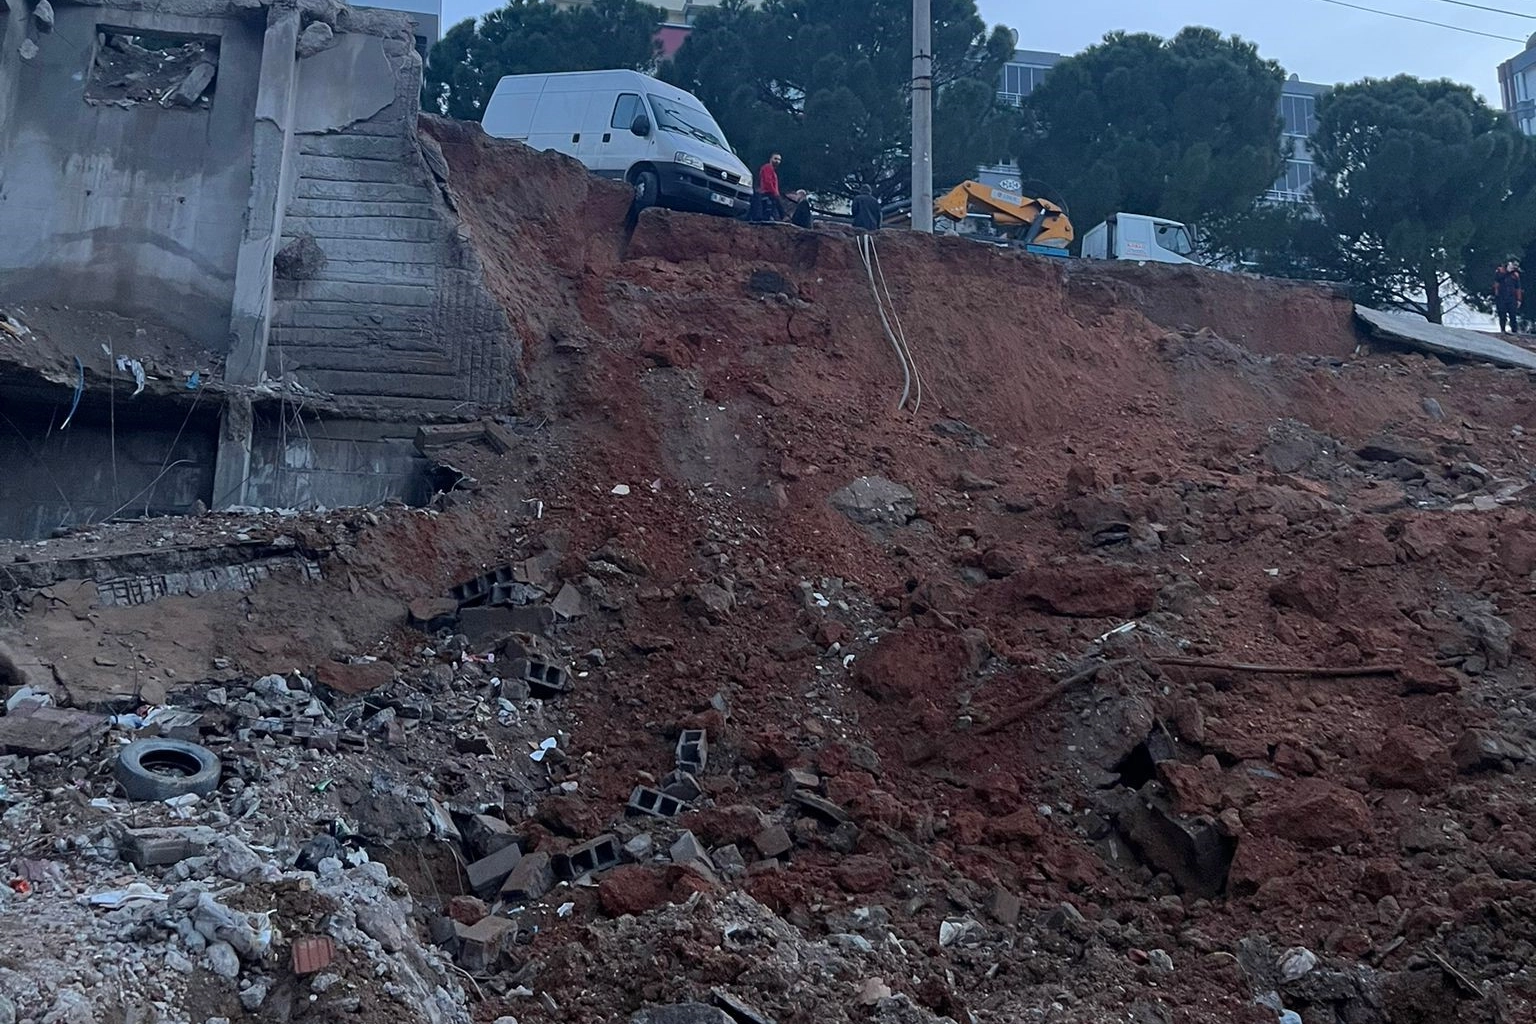
[[338, 0], [9, 0], [0, 536], [421, 502], [416, 427], [507, 402], [415, 34]]

